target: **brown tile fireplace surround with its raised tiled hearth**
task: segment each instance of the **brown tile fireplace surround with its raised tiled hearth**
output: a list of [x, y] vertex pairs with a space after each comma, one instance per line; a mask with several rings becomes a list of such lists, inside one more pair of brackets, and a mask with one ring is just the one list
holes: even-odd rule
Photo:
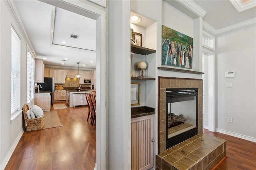
[[[211, 170], [226, 158], [226, 140], [202, 133], [202, 79], [158, 77], [156, 170]], [[166, 88], [198, 88], [198, 134], [166, 150]]]

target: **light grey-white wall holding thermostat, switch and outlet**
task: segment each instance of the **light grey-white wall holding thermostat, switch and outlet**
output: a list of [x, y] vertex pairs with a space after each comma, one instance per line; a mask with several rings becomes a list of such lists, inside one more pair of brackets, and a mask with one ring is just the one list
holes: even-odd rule
[[[217, 131], [255, 142], [256, 24], [217, 35], [216, 60]], [[224, 77], [227, 71], [235, 71], [235, 77]], [[226, 83], [233, 83], [233, 88], [226, 88]]]

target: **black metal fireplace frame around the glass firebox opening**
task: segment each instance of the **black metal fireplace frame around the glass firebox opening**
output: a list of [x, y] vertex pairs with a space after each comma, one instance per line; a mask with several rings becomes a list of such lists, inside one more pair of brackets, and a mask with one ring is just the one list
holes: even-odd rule
[[[196, 96], [196, 127], [186, 132], [168, 138], [168, 100], [167, 97]], [[198, 134], [198, 88], [168, 88], [166, 89], [166, 149], [179, 144]]]

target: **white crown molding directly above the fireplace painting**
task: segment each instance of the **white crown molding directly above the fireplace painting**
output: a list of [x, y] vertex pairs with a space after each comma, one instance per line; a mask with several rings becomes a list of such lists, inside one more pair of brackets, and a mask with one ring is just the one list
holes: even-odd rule
[[198, 16], [201, 16], [202, 18], [205, 16], [207, 13], [203, 8], [201, 8], [196, 2], [192, 0], [177, 0], [182, 6], [190, 9], [192, 12], [197, 14]]

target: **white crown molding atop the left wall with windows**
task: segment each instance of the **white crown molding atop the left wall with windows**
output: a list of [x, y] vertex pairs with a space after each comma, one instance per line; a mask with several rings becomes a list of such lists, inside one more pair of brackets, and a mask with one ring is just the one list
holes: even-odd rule
[[15, 18], [16, 18], [18, 24], [19, 24], [19, 26], [20, 26], [20, 29], [21, 29], [21, 31], [22, 31], [22, 33], [23, 33], [23, 35], [24, 35], [24, 37], [25, 37], [27, 43], [28, 43], [28, 44], [27, 44], [27, 45], [28, 45], [28, 48], [31, 50], [30, 53], [31, 53], [34, 57], [37, 57], [37, 56], [36, 56], [36, 52], [34, 51], [34, 48], [33, 48], [32, 44], [31, 44], [30, 40], [28, 39], [28, 34], [26, 33], [26, 30], [25, 30], [25, 28], [24, 28], [24, 26], [23, 26], [23, 24], [22, 24], [22, 21], [21, 21], [21, 19], [20, 19], [20, 15], [18, 14], [18, 11], [17, 11], [17, 8], [16, 8], [16, 5], [15, 5], [14, 0], [7, 0], [7, 2], [8, 2], [8, 4], [9, 4], [9, 6], [10, 6], [10, 8], [11, 8], [11, 10], [12, 10], [12, 13], [14, 14], [14, 16], [15, 16]]

